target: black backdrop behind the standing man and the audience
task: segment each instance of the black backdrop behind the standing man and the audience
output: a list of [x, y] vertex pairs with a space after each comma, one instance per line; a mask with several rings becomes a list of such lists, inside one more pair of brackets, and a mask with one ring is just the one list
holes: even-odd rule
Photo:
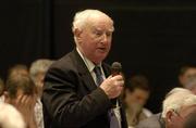
[[187, 0], [7, 0], [1, 4], [0, 76], [36, 59], [59, 59], [74, 48], [74, 13], [99, 9], [114, 20], [112, 50], [126, 77], [145, 74], [152, 94], [147, 104], [160, 111], [166, 92], [177, 84], [179, 68], [196, 63], [196, 3]]

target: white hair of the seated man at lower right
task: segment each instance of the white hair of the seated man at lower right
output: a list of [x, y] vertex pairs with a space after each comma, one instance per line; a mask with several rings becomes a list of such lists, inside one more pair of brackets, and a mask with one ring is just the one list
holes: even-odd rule
[[169, 111], [179, 112], [184, 106], [196, 105], [196, 95], [189, 90], [183, 88], [174, 88], [167, 95], [162, 104], [162, 117]]

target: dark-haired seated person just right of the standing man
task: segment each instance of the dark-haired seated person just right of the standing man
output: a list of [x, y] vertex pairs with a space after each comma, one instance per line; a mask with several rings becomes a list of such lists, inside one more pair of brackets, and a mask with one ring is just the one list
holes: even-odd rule
[[150, 94], [148, 79], [143, 75], [133, 76], [125, 87], [124, 103], [130, 127], [149, 117], [151, 112], [144, 107]]

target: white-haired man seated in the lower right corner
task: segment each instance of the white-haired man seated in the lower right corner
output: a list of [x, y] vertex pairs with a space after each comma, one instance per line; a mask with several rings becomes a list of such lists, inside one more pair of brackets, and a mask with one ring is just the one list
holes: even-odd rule
[[136, 128], [184, 128], [187, 117], [196, 112], [196, 95], [187, 89], [174, 88], [166, 97], [162, 113], [142, 120]]

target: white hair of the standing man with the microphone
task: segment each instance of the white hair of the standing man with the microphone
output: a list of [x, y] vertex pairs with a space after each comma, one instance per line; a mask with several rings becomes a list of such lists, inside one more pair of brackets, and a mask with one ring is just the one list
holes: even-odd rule
[[[79, 12], [75, 13], [75, 16], [74, 16], [73, 23], [72, 23], [72, 31], [74, 33], [75, 29], [84, 28], [87, 25], [87, 23], [89, 22], [88, 18], [94, 15], [106, 15], [107, 17], [109, 17], [111, 20], [111, 23], [113, 24], [112, 18], [109, 15], [107, 15], [106, 13], [103, 13], [99, 10], [88, 9], [88, 10], [84, 10], [84, 11], [79, 11]], [[114, 27], [112, 27], [112, 31], [113, 30], [114, 30]], [[74, 35], [74, 40], [77, 44], [75, 35]]]

